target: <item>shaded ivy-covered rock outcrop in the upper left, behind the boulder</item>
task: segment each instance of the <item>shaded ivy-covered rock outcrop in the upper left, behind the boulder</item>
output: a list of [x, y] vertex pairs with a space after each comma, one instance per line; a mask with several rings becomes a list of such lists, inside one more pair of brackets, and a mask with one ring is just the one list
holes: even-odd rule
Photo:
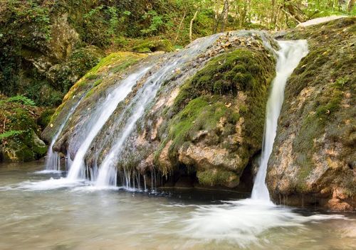
[[[62, 7], [61, 7], [62, 6]], [[55, 107], [103, 51], [82, 42], [73, 11], [53, 1], [1, 1], [0, 92]]]

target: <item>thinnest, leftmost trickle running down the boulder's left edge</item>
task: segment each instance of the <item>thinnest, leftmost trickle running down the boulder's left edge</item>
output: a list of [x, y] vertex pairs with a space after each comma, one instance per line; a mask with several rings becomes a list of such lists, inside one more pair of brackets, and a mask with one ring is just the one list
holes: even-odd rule
[[61, 170], [61, 156], [59, 155], [58, 152], [53, 151], [53, 145], [56, 143], [58, 136], [62, 133], [64, 126], [66, 126], [66, 123], [70, 116], [72, 116], [73, 112], [75, 109], [78, 107], [80, 102], [82, 101], [83, 97], [79, 99], [79, 101], [70, 109], [68, 112], [66, 119], [62, 121], [61, 126], [59, 127], [57, 133], [55, 136], [52, 138], [51, 145], [48, 148], [47, 156], [46, 156], [46, 170], [47, 171], [60, 171]]

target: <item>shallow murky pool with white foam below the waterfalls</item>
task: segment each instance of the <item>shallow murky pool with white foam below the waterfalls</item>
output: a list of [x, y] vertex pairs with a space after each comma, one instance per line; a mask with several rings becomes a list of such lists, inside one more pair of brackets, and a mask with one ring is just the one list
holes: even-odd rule
[[1, 250], [356, 249], [356, 214], [258, 204], [236, 192], [53, 188], [43, 180], [61, 173], [42, 169], [0, 165]]

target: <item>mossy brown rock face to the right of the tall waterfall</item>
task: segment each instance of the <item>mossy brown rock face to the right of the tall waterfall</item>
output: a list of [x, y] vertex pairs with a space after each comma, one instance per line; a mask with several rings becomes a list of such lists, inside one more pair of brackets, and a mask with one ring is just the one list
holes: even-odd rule
[[267, 183], [273, 200], [355, 210], [356, 18], [283, 34], [310, 53], [288, 80]]

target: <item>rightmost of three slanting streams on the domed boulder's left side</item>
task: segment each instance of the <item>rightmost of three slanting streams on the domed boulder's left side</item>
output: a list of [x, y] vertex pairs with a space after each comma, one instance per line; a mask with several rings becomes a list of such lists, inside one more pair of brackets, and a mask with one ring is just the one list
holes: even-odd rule
[[[150, 106], [153, 99], [155, 98], [159, 87], [162, 86], [162, 83], [172, 77], [172, 72], [177, 68], [181, 67], [185, 63], [192, 60], [201, 53], [201, 51], [206, 50], [206, 48], [211, 45], [217, 38], [216, 36], [210, 36], [201, 41], [201, 43], [195, 43], [194, 45], [179, 51], [177, 55], [168, 62], [166, 62], [159, 70], [152, 74], [139, 92], [132, 99], [130, 104], [127, 105], [124, 112], [127, 112], [129, 115], [128, 119], [125, 122], [125, 126], [120, 135], [118, 136], [117, 141], [110, 148], [110, 153], [105, 156], [103, 163], [101, 163], [99, 168], [98, 180], [96, 180], [95, 185], [98, 187], [105, 187], [110, 185], [116, 185], [116, 175], [117, 175], [117, 160], [120, 158], [120, 153], [123, 146], [125, 146], [125, 141], [128, 136], [135, 129], [135, 124], [138, 119], [140, 119], [147, 107]], [[122, 116], [124, 117], [124, 116]]]

